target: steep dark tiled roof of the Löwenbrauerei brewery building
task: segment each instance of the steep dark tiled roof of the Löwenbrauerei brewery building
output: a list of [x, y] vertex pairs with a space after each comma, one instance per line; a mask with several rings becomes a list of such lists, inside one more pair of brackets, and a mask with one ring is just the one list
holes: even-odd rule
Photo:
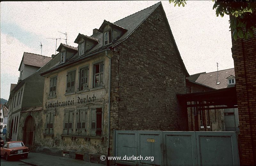
[[[111, 22], [108, 22], [108, 21], [104, 20], [103, 24], [104, 23], [109, 23], [109, 24], [111, 24], [113, 26], [117, 26], [117, 27], [120, 27], [122, 29], [126, 29], [127, 31], [122, 36], [120, 36], [120, 38], [118, 38], [116, 41], [112, 42], [111, 44], [103, 45], [102, 42], [99, 42], [98, 44], [96, 44], [94, 47], [92, 47], [90, 50], [88, 50], [82, 56], [78, 56], [78, 53], [76, 53], [76, 55], [74, 55], [70, 59], [66, 60], [65, 63], [56, 64], [55, 67], [52, 67], [48, 71], [41, 73], [41, 76], [45, 75], [47, 73], [50, 73], [51, 71], [55, 71], [55, 70], [60, 69], [62, 67], [65, 67], [65, 66], [68, 66], [70, 64], [76, 63], [76, 62], [78, 62], [80, 60], [86, 59], [86, 58], [88, 58], [88, 57], [92, 56], [93, 54], [98, 53], [100, 51], [104, 51], [106, 49], [115, 47], [117, 44], [119, 44], [119, 43], [123, 42], [125, 39], [127, 39], [140, 26], [140, 24], [142, 24], [144, 22], [144, 20], [146, 20], [148, 18], [148, 16], [152, 12], [155, 11], [155, 9], [159, 5], [161, 5], [162, 10], [164, 11], [161, 2], [158, 2], [157, 4], [154, 4], [154, 5], [146, 8], [146, 9], [143, 9], [143, 10], [141, 10], [139, 12], [136, 12], [136, 13], [134, 13], [134, 14], [132, 14], [130, 16], [127, 16], [127, 17], [125, 17], [125, 18], [123, 18], [121, 20], [118, 20], [118, 21], [116, 21], [114, 23], [111, 23]], [[165, 16], [165, 19], [167, 21], [167, 25], [169, 25], [166, 16]], [[101, 27], [103, 26], [103, 24], [101, 25]], [[177, 51], [179, 53], [179, 50], [178, 50], [177, 45], [175, 43], [175, 40], [173, 38], [170, 26], [169, 26], [169, 31], [171, 33], [172, 40], [174, 41], [174, 45], [175, 45], [175, 47], [176, 47], [176, 49], [177, 49]], [[99, 41], [103, 40], [103, 35], [102, 35], [102, 33], [100, 31], [98, 31], [97, 33], [93, 34], [91, 37], [95, 38], [95, 39], [98, 39]], [[181, 59], [180, 53], [179, 53], [179, 58], [180, 58], [180, 62], [182, 63], [182, 67], [185, 70], [186, 75], [188, 76], [189, 75], [188, 71], [187, 71], [187, 69], [186, 69], [186, 67], [185, 67], [185, 65], [184, 65], [184, 63], [183, 63], [183, 61]]]

